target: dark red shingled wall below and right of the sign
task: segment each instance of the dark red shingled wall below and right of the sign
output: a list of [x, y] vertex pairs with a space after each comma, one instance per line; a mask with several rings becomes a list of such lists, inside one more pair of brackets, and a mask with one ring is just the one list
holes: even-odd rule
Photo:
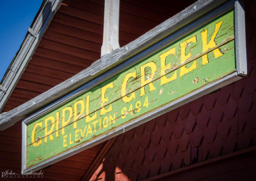
[[[209, 168], [205, 179], [256, 178], [256, 3], [245, 7], [248, 75], [118, 136], [92, 180], [143, 180], [175, 170], [194, 180]], [[221, 165], [232, 171], [214, 175]]]

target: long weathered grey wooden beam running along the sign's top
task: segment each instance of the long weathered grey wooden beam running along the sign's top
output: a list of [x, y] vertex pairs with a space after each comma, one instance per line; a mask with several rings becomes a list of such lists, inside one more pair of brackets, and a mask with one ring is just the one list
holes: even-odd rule
[[48, 105], [68, 92], [74, 91], [77, 87], [80, 87], [84, 83], [89, 82], [93, 78], [124, 62], [138, 52], [145, 50], [145, 48], [150, 47], [157, 41], [177, 31], [180, 27], [189, 24], [198, 18], [198, 16], [213, 10], [224, 2], [226, 2], [226, 0], [197, 1], [185, 10], [180, 11], [177, 15], [169, 18], [162, 24], [157, 25], [157, 27], [148, 31], [148, 33], [143, 34], [140, 38], [125, 45], [125, 47], [118, 48], [110, 54], [100, 58], [97, 62], [93, 63], [90, 68], [84, 69], [84, 71], [81, 71], [63, 83], [60, 83], [60, 85], [53, 87], [49, 91], [44, 92], [40, 96], [31, 99], [10, 112], [1, 113], [0, 130], [12, 126], [15, 122], [24, 119], [42, 106]]

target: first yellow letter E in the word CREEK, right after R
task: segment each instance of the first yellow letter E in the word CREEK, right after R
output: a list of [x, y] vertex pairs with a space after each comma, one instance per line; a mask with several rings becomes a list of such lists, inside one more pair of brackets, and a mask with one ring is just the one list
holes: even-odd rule
[[168, 55], [175, 55], [175, 47], [172, 48], [171, 50], [165, 52], [164, 54], [160, 55], [160, 59], [161, 59], [161, 71], [160, 71], [161, 85], [164, 85], [165, 83], [171, 82], [172, 80], [175, 80], [177, 78], [177, 70], [174, 71], [173, 75], [170, 78], [167, 78], [165, 76], [165, 71], [167, 69], [171, 68], [171, 63], [170, 62], [167, 65], [165, 64], [166, 57]]

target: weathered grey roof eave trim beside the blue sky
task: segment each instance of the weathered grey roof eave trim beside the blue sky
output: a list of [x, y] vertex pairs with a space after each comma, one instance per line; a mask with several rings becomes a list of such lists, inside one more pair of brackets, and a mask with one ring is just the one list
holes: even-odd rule
[[62, 0], [45, 0], [38, 11], [33, 24], [28, 29], [19, 51], [13, 58], [8, 70], [6, 71], [0, 85], [0, 112], [10, 98], [13, 89], [19, 82], [20, 76], [26, 69], [38, 43], [51, 23], [56, 11], [60, 7]]

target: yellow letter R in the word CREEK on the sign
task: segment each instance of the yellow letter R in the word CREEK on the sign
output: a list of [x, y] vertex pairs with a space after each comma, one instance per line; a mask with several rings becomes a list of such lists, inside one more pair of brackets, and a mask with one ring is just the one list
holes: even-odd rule
[[[148, 76], [147, 80], [145, 80], [145, 68], [146, 67], [149, 67], [151, 69], [151, 73]], [[147, 83], [149, 86], [149, 92], [156, 90], [156, 87], [154, 87], [153, 83], [150, 82], [156, 74], [156, 64], [154, 62], [148, 62], [147, 64], [141, 66], [140, 73], [141, 73], [141, 86], [143, 86], [140, 88], [140, 96], [145, 95], [145, 86], [144, 85], [147, 85]]]

